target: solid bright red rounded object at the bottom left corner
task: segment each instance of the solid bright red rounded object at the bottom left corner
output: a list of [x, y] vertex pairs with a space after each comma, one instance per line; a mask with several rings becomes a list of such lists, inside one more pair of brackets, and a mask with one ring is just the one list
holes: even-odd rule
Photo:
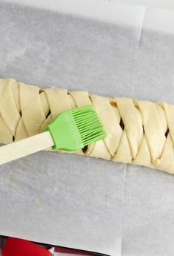
[[3, 256], [51, 256], [51, 253], [36, 243], [9, 237], [2, 248]]

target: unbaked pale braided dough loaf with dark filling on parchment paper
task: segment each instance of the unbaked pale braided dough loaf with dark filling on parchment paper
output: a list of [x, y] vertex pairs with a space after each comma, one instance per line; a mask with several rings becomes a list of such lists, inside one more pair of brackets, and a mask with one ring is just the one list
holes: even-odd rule
[[174, 105], [165, 102], [110, 99], [0, 79], [0, 142], [38, 134], [62, 111], [90, 104], [107, 137], [74, 153], [174, 173]]

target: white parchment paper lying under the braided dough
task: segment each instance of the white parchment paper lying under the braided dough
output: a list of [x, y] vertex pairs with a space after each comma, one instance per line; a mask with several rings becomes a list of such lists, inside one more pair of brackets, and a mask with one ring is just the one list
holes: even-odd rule
[[[125, 7], [124, 16], [108, 4], [107, 13], [114, 6], [123, 16], [0, 2], [0, 76], [174, 103], [173, 12]], [[107, 255], [173, 255], [170, 174], [51, 152], [2, 165], [0, 174], [0, 234]]]

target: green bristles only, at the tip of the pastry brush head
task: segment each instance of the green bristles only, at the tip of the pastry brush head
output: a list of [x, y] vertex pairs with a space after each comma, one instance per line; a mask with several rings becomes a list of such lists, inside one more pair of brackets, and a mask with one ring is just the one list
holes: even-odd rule
[[92, 105], [74, 109], [72, 115], [84, 146], [106, 137], [103, 126]]

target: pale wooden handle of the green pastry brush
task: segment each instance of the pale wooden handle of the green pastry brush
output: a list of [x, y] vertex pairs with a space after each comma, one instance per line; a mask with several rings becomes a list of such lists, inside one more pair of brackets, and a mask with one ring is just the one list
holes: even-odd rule
[[50, 131], [0, 147], [0, 165], [36, 153], [54, 145]]

